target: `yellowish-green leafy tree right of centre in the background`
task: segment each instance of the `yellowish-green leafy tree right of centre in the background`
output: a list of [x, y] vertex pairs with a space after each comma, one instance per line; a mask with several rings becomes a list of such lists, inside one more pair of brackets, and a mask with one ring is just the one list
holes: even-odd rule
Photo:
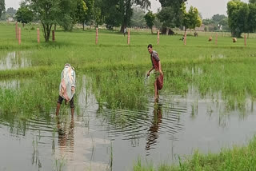
[[202, 25], [202, 19], [199, 17], [198, 9], [190, 6], [189, 12], [186, 12], [185, 5], [182, 7], [183, 11], [183, 26], [186, 29], [194, 29], [196, 26]]

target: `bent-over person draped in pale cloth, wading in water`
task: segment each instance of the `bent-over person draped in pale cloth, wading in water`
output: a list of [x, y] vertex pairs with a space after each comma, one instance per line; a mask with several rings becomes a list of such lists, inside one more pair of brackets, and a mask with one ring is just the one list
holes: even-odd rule
[[71, 114], [74, 115], [74, 92], [75, 92], [75, 72], [74, 67], [70, 64], [65, 64], [62, 70], [62, 80], [59, 85], [59, 96], [57, 102], [56, 116], [58, 116], [62, 101], [65, 99], [65, 104], [70, 102]]

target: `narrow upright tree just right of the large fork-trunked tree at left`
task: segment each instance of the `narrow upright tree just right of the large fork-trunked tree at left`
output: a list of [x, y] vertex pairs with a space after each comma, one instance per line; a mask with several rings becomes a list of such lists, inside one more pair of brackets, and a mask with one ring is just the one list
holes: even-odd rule
[[78, 0], [77, 8], [75, 11], [77, 22], [82, 24], [82, 30], [85, 30], [86, 11], [88, 10], [84, 0]]

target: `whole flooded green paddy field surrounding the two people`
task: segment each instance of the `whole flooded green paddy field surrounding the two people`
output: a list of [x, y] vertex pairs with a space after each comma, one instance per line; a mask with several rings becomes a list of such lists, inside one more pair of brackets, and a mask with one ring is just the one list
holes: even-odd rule
[[[7, 143], [14, 141], [6, 137], [9, 134], [27, 138], [22, 140], [26, 148], [15, 143], [7, 148], [12, 153], [34, 153], [36, 165], [26, 170], [242, 168], [225, 162], [254, 146], [254, 140], [247, 145], [256, 130], [254, 34], [246, 46], [244, 39], [233, 43], [224, 34], [218, 42], [208, 42], [208, 33], [188, 36], [184, 46], [181, 35], [161, 35], [156, 45], [157, 34], [131, 30], [127, 45], [123, 34], [100, 29], [95, 45], [94, 29], [59, 28], [55, 42], [43, 42], [41, 32], [38, 44], [37, 27], [22, 28], [18, 45], [14, 23], [0, 23], [0, 137]], [[154, 104], [153, 74], [145, 80], [151, 67], [146, 49], [150, 43], [158, 51], [165, 77], [159, 104]], [[77, 75], [76, 111], [71, 118], [69, 105], [62, 105], [56, 121], [65, 63], [74, 66]], [[233, 143], [245, 147], [221, 150]], [[199, 152], [193, 154], [194, 149]], [[208, 151], [208, 156], [199, 154]], [[186, 160], [184, 155], [192, 157]], [[217, 161], [218, 155], [226, 155], [223, 163]], [[12, 169], [8, 157], [2, 157], [0, 164], [6, 165], [1, 167]], [[22, 160], [19, 167], [30, 161]], [[213, 164], [206, 165], [209, 162]]]

